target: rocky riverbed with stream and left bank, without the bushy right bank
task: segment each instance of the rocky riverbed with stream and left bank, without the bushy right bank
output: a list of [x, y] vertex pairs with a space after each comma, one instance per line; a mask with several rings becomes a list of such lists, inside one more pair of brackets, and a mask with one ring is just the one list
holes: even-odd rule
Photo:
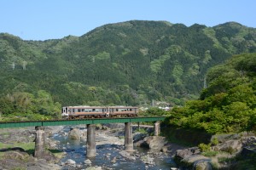
[[[166, 144], [161, 137], [144, 137], [148, 133], [134, 133], [137, 146], [126, 152], [122, 125], [97, 127], [96, 157], [87, 159], [86, 129], [80, 127], [47, 127], [49, 153], [43, 159], [32, 156], [35, 139], [33, 127], [2, 129], [0, 132], [0, 169], [170, 169], [176, 167], [172, 155], [178, 146]], [[70, 129], [73, 129], [70, 132]], [[150, 128], [148, 128], [150, 130]], [[147, 130], [148, 130], [147, 129]], [[135, 129], [134, 129], [135, 130]], [[144, 140], [143, 140], [144, 139]], [[151, 144], [150, 144], [151, 143]], [[20, 144], [20, 145], [19, 145]], [[31, 144], [24, 146], [24, 144]], [[155, 148], [156, 146], [160, 148]], [[20, 147], [17, 147], [20, 146]], [[166, 147], [166, 148], [165, 148]], [[25, 148], [25, 149], [23, 149]], [[151, 148], [151, 149], [149, 149]], [[164, 148], [164, 149], [163, 149]], [[181, 148], [179, 148], [181, 149]], [[160, 151], [161, 150], [161, 151]]]

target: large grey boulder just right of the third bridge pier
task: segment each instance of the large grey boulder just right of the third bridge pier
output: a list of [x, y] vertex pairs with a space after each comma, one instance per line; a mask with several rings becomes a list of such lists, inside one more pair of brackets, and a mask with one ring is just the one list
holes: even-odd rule
[[162, 136], [148, 136], [141, 144], [142, 147], [146, 147], [152, 150], [161, 150], [166, 144], [166, 138]]

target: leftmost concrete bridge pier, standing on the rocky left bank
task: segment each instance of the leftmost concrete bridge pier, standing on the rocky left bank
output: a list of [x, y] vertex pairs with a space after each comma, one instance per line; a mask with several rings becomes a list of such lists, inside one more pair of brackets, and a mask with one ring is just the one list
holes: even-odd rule
[[44, 156], [45, 151], [45, 133], [44, 127], [36, 127], [36, 139], [35, 139], [35, 157], [42, 157]]

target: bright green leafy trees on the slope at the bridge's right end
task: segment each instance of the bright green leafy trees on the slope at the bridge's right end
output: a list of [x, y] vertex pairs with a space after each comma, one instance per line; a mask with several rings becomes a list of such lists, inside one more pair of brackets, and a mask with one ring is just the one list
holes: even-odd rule
[[207, 133], [256, 131], [256, 54], [239, 54], [207, 74], [200, 99], [169, 112], [167, 124]]

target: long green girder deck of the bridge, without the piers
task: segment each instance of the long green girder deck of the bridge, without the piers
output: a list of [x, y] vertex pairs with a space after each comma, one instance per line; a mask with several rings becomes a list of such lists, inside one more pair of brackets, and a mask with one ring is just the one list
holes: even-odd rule
[[99, 118], [99, 119], [79, 119], [79, 120], [55, 120], [38, 122], [0, 122], [0, 128], [8, 127], [47, 127], [62, 125], [98, 124], [98, 123], [118, 123], [118, 122], [157, 122], [163, 121], [165, 117], [119, 117], [119, 118]]

